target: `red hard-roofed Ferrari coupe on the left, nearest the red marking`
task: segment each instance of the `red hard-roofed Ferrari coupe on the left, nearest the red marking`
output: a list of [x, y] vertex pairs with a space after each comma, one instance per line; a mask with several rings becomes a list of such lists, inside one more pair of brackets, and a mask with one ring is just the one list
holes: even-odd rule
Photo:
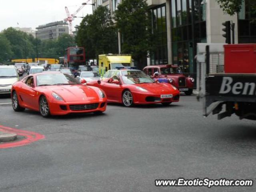
[[72, 76], [59, 72], [27, 76], [12, 86], [14, 111], [25, 108], [44, 117], [106, 110], [106, 94], [97, 87], [84, 86]]

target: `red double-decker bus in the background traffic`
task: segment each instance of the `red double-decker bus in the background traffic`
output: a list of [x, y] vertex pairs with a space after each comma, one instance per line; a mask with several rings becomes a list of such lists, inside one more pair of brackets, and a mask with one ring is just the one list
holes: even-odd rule
[[83, 47], [69, 47], [65, 50], [64, 67], [77, 70], [79, 65], [85, 65], [85, 51]]

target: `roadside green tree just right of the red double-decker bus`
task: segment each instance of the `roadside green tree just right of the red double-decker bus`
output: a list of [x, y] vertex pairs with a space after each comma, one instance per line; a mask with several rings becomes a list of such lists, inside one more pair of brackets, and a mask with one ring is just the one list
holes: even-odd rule
[[108, 8], [99, 6], [82, 20], [76, 41], [85, 48], [87, 59], [117, 52], [116, 29]]

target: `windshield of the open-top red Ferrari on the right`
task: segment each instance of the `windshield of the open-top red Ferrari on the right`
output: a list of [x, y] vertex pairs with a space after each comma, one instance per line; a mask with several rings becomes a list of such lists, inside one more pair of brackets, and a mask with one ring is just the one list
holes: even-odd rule
[[140, 84], [140, 83], [154, 83], [150, 77], [148, 77], [142, 71], [122, 71], [122, 80], [125, 84]]

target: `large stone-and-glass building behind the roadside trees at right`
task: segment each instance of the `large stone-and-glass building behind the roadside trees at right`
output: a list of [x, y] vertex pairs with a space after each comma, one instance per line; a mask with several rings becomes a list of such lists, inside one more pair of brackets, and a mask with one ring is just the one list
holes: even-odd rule
[[[156, 50], [150, 54], [151, 64], [176, 64], [183, 72], [194, 74], [196, 44], [225, 43], [222, 23], [228, 20], [236, 25], [236, 43], [256, 43], [256, 25], [250, 22], [256, 14], [250, 13], [250, 1], [254, 0], [243, 2], [238, 15], [229, 16], [216, 0], [147, 0], [153, 32], [159, 37]], [[93, 3], [93, 10], [102, 5], [113, 14], [122, 0], [93, 0]], [[120, 44], [119, 41], [119, 47]]]

